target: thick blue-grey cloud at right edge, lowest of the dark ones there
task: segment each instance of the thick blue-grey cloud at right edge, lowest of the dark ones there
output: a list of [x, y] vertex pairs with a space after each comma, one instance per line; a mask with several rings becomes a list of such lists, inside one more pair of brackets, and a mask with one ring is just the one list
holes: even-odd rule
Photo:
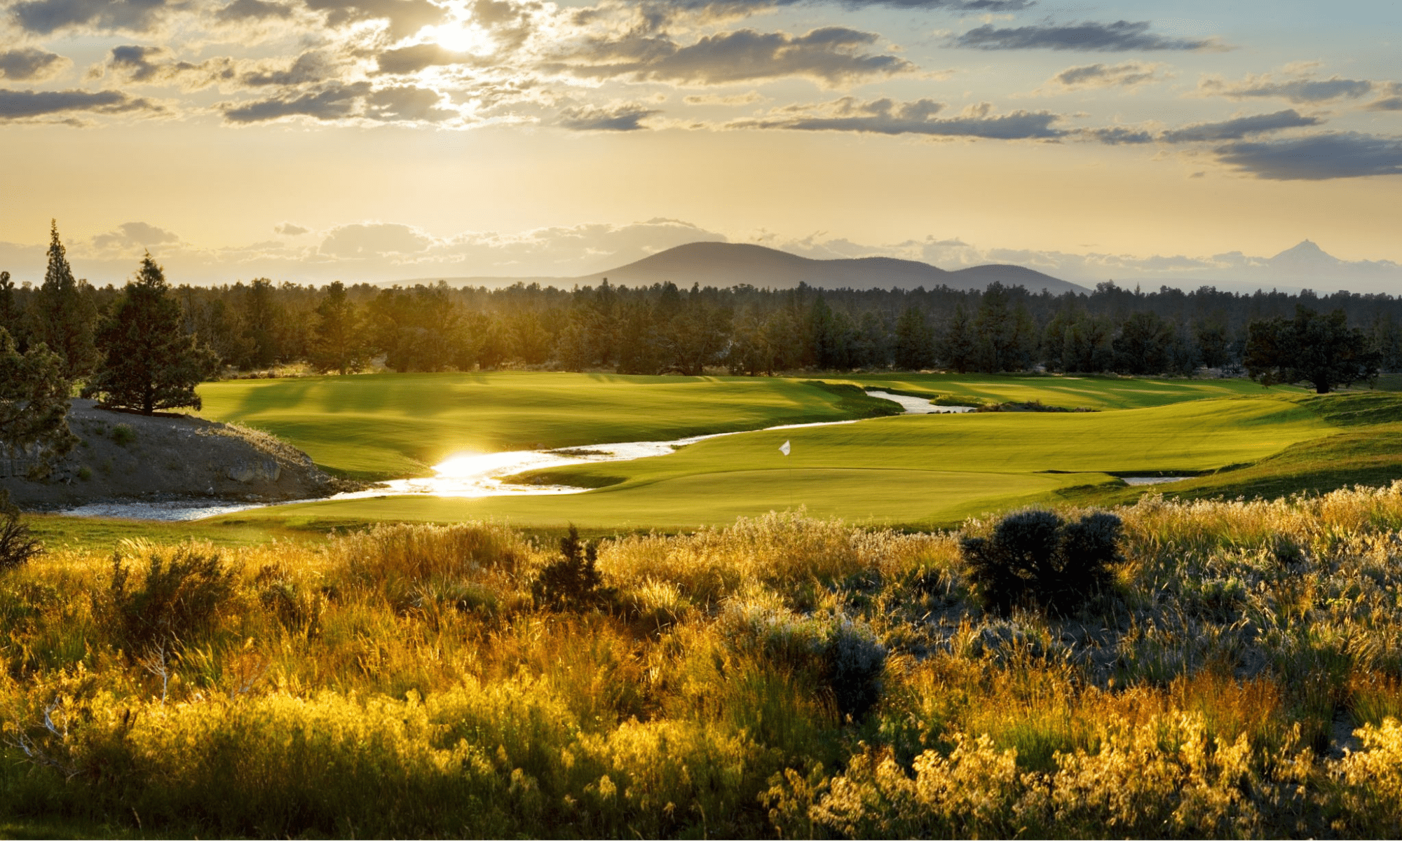
[[1218, 160], [1270, 181], [1402, 175], [1402, 137], [1335, 132], [1259, 143], [1228, 143]]

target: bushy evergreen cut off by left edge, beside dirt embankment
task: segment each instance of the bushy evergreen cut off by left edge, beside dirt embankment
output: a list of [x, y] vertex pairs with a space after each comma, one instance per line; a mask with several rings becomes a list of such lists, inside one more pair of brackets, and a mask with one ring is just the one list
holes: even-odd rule
[[73, 449], [69, 390], [63, 360], [45, 345], [21, 355], [0, 328], [0, 450], [8, 457], [57, 458]]

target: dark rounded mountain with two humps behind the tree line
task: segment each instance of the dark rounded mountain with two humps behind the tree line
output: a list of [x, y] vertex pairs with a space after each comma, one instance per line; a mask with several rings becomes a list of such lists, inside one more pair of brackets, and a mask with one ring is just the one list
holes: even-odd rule
[[[857, 259], [810, 259], [744, 242], [688, 242], [659, 251], [637, 262], [580, 278], [444, 278], [454, 286], [510, 286], [540, 283], [555, 286], [596, 286], [604, 278], [618, 286], [651, 286], [672, 282], [681, 287], [750, 285], [768, 289], [792, 289], [799, 283], [823, 289], [916, 289], [949, 286], [984, 289], [993, 282], [1023, 286], [1039, 293], [1089, 292], [1084, 286], [1059, 280], [1022, 266], [987, 265], [946, 272], [913, 259], [862, 257]], [[437, 279], [426, 279], [436, 282]], [[408, 280], [407, 283], [416, 283]]]

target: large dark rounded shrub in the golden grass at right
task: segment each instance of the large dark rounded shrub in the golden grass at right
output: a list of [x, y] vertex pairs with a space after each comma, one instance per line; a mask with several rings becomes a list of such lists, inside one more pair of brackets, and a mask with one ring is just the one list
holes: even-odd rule
[[1122, 561], [1122, 531], [1115, 514], [1066, 523], [1052, 512], [1018, 512], [1004, 517], [991, 538], [963, 538], [960, 549], [987, 610], [1007, 615], [1018, 606], [1039, 606], [1067, 614], [1109, 586], [1110, 566]]

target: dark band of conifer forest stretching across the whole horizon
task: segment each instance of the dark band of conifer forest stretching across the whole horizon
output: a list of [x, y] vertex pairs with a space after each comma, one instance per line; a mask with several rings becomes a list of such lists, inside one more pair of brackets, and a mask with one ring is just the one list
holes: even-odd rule
[[[220, 370], [306, 362], [352, 373], [552, 367], [627, 374], [816, 370], [1117, 373], [1246, 370], [1333, 384], [1402, 370], [1402, 299], [1312, 292], [559, 289], [436, 285], [322, 287], [255, 279], [171, 287], [142, 261], [126, 286], [73, 278], [57, 228], [42, 283], [0, 272], [7, 353], [43, 348], [62, 376], [109, 405], [196, 405]], [[1301, 348], [1323, 349], [1319, 359]], [[38, 359], [38, 357], [36, 357]], [[1342, 362], [1340, 362], [1342, 360]], [[43, 367], [31, 362], [31, 367]]]

